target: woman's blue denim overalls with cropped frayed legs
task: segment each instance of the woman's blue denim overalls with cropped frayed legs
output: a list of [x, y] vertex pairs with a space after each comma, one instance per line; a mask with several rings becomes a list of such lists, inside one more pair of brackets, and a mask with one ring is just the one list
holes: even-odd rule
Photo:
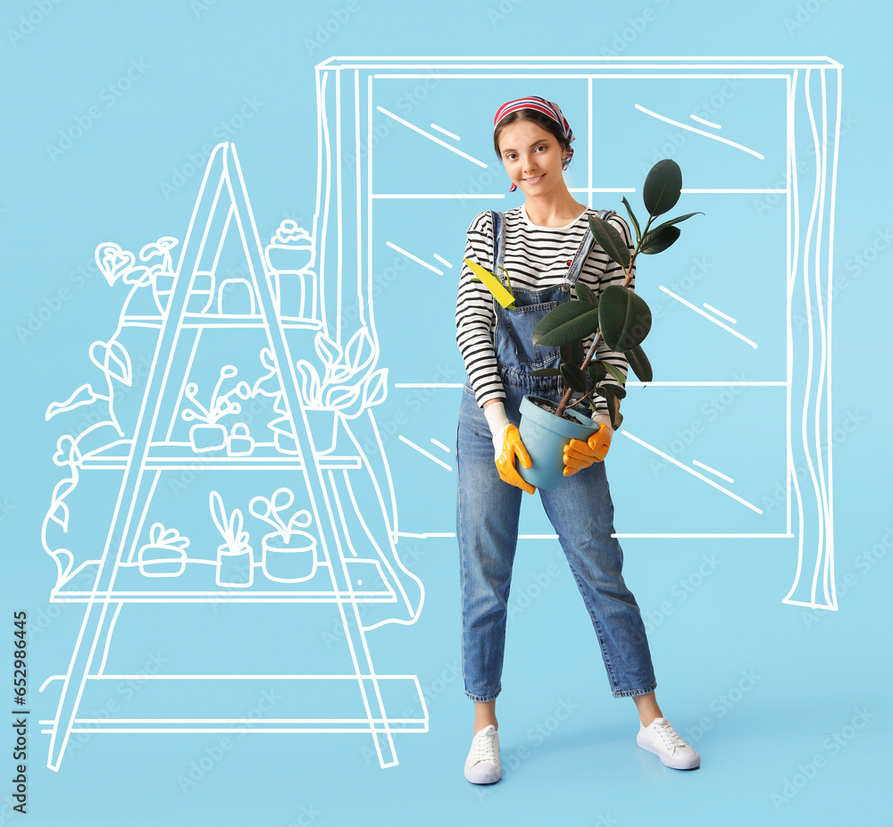
[[[610, 213], [603, 211], [599, 217]], [[501, 271], [496, 264], [503, 263], [503, 230], [502, 213], [494, 213], [497, 274]], [[534, 347], [530, 335], [546, 313], [572, 298], [572, 285], [593, 243], [587, 230], [562, 285], [539, 290], [513, 287], [513, 310], [493, 301], [505, 414], [514, 424], [520, 422], [518, 409], [526, 394], [556, 402], [560, 398], [557, 378], [530, 375], [539, 368], [557, 367], [559, 349]], [[487, 420], [467, 381], [459, 407], [456, 473], [465, 694], [474, 701], [488, 701], [502, 690], [505, 621], [523, 492], [499, 478]], [[594, 463], [557, 489], [540, 490], [539, 496], [595, 627], [613, 695], [646, 695], [657, 681], [636, 598], [623, 581], [622, 549], [611, 536], [613, 504], [605, 464]]]

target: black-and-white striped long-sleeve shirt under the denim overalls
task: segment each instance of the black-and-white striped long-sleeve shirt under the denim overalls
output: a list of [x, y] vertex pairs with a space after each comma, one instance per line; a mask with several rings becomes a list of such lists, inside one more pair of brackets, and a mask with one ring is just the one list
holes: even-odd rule
[[[541, 289], [560, 285], [568, 271], [568, 262], [588, 229], [587, 215], [595, 214], [597, 210], [587, 208], [575, 221], [563, 227], [541, 227], [530, 221], [525, 205], [508, 210], [504, 224], [504, 266], [513, 287]], [[626, 221], [616, 214], [609, 221], [620, 232], [631, 253], [633, 244]], [[493, 229], [489, 212], [478, 213], [472, 219], [464, 257], [488, 271], [493, 270]], [[623, 278], [620, 264], [613, 262], [602, 247], [595, 244], [583, 263], [580, 281], [598, 295], [608, 285], [622, 285]], [[630, 281], [630, 287], [634, 286], [635, 274]], [[493, 297], [480, 281], [474, 280], [471, 269], [464, 262], [459, 276], [455, 324], [456, 343], [478, 405], [484, 405], [489, 399], [505, 398], [494, 349], [496, 314]], [[586, 347], [591, 343], [592, 337], [589, 337]], [[629, 367], [626, 357], [609, 349], [604, 342], [598, 345], [597, 358], [617, 365], [626, 375]], [[608, 381], [613, 381], [610, 375]], [[595, 397], [595, 404], [597, 414], [607, 414], [603, 397]]]

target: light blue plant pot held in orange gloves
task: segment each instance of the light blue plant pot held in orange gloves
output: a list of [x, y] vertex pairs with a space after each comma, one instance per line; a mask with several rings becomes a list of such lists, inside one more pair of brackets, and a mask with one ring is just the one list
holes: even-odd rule
[[[561, 416], [544, 411], [531, 400], [537, 399], [547, 405], [555, 405], [543, 397], [524, 397], [521, 402], [521, 441], [530, 454], [532, 463], [525, 468], [520, 461], [515, 467], [522, 480], [538, 489], [556, 489], [564, 480], [563, 449], [571, 439], [589, 439], [598, 428], [588, 416], [576, 411], [567, 411], [577, 422], [569, 422]], [[579, 424], [578, 424], [579, 423]]]

